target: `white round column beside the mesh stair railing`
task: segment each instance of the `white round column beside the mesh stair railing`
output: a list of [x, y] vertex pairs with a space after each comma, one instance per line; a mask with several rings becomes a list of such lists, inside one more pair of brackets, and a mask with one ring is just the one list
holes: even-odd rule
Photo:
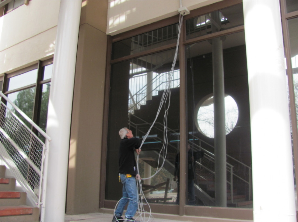
[[61, 0], [47, 117], [49, 148], [45, 221], [64, 222], [69, 135], [82, 0]]

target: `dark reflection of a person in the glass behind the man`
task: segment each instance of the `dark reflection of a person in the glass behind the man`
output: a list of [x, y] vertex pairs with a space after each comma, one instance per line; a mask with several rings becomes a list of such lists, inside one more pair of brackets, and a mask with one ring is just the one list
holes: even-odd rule
[[[194, 186], [194, 179], [195, 179], [195, 161], [202, 158], [204, 156], [203, 151], [193, 152], [190, 149], [190, 145], [187, 146], [188, 151], [188, 205], [195, 205], [195, 186]], [[176, 203], [179, 204], [179, 188], [180, 188], [180, 180], [179, 180], [179, 173], [180, 172], [180, 153], [177, 153], [176, 160], [175, 160], [175, 173], [174, 173], [174, 180], [177, 181], [177, 200]]]

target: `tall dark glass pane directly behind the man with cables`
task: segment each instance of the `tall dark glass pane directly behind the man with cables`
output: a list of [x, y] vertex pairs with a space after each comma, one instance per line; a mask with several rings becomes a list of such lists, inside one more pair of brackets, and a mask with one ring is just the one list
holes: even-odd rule
[[[180, 71], [179, 61], [177, 61], [174, 72], [169, 73], [174, 54], [175, 49], [112, 65], [105, 192], [105, 198], [108, 200], [119, 200], [122, 195], [122, 184], [118, 182], [117, 176], [118, 149], [121, 141], [118, 131], [128, 127], [134, 136], [143, 140], [156, 118], [163, 93], [170, 85], [169, 113], [171, 114], [167, 116], [167, 137], [164, 136], [166, 130], [163, 107], [144, 141], [138, 166], [142, 178], [148, 178], [161, 169], [152, 179], [142, 182], [145, 198], [149, 203], [177, 204], [177, 183], [173, 179], [180, 139]], [[168, 81], [169, 75], [170, 81]], [[161, 152], [164, 149], [165, 138], [168, 140], [167, 156]], [[165, 163], [161, 168], [163, 158]], [[153, 187], [156, 189], [149, 192]]]

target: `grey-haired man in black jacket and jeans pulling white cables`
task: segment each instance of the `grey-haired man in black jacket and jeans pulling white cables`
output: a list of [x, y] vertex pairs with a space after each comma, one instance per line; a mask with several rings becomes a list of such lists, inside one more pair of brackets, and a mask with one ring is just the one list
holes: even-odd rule
[[[123, 184], [123, 188], [122, 198], [114, 212], [112, 222], [139, 222], [133, 218], [135, 212], [138, 210], [138, 188], [136, 184], [136, 177], [138, 175], [134, 150], [137, 154], [141, 152], [141, 149], [139, 149], [141, 142], [139, 138], [134, 137], [131, 130], [128, 130], [127, 128], [119, 130], [119, 136], [121, 138], [119, 147], [119, 181]], [[127, 203], [128, 206], [125, 212], [125, 219], [123, 219], [121, 216]]]

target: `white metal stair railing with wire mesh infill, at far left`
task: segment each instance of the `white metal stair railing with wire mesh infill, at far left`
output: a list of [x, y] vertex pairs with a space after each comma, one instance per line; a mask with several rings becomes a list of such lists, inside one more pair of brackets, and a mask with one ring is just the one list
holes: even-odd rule
[[[44, 211], [47, 156], [51, 138], [40, 129], [2, 92], [0, 102], [0, 156], [15, 176], [27, 197]], [[2, 101], [7, 101], [18, 115], [45, 138], [45, 142], [33, 133], [19, 117]], [[41, 218], [41, 221], [42, 218]]]

